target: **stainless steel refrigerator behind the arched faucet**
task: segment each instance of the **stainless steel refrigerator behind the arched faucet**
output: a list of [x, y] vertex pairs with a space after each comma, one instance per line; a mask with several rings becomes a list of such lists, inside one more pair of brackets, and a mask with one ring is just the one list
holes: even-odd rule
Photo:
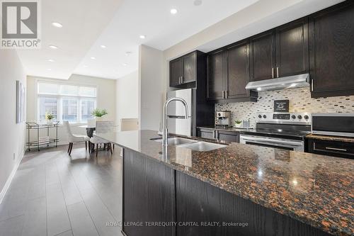
[[188, 103], [189, 116], [185, 119], [185, 108], [180, 101], [172, 101], [167, 108], [167, 128], [169, 133], [195, 136], [195, 89], [169, 91], [167, 99], [181, 98]]

